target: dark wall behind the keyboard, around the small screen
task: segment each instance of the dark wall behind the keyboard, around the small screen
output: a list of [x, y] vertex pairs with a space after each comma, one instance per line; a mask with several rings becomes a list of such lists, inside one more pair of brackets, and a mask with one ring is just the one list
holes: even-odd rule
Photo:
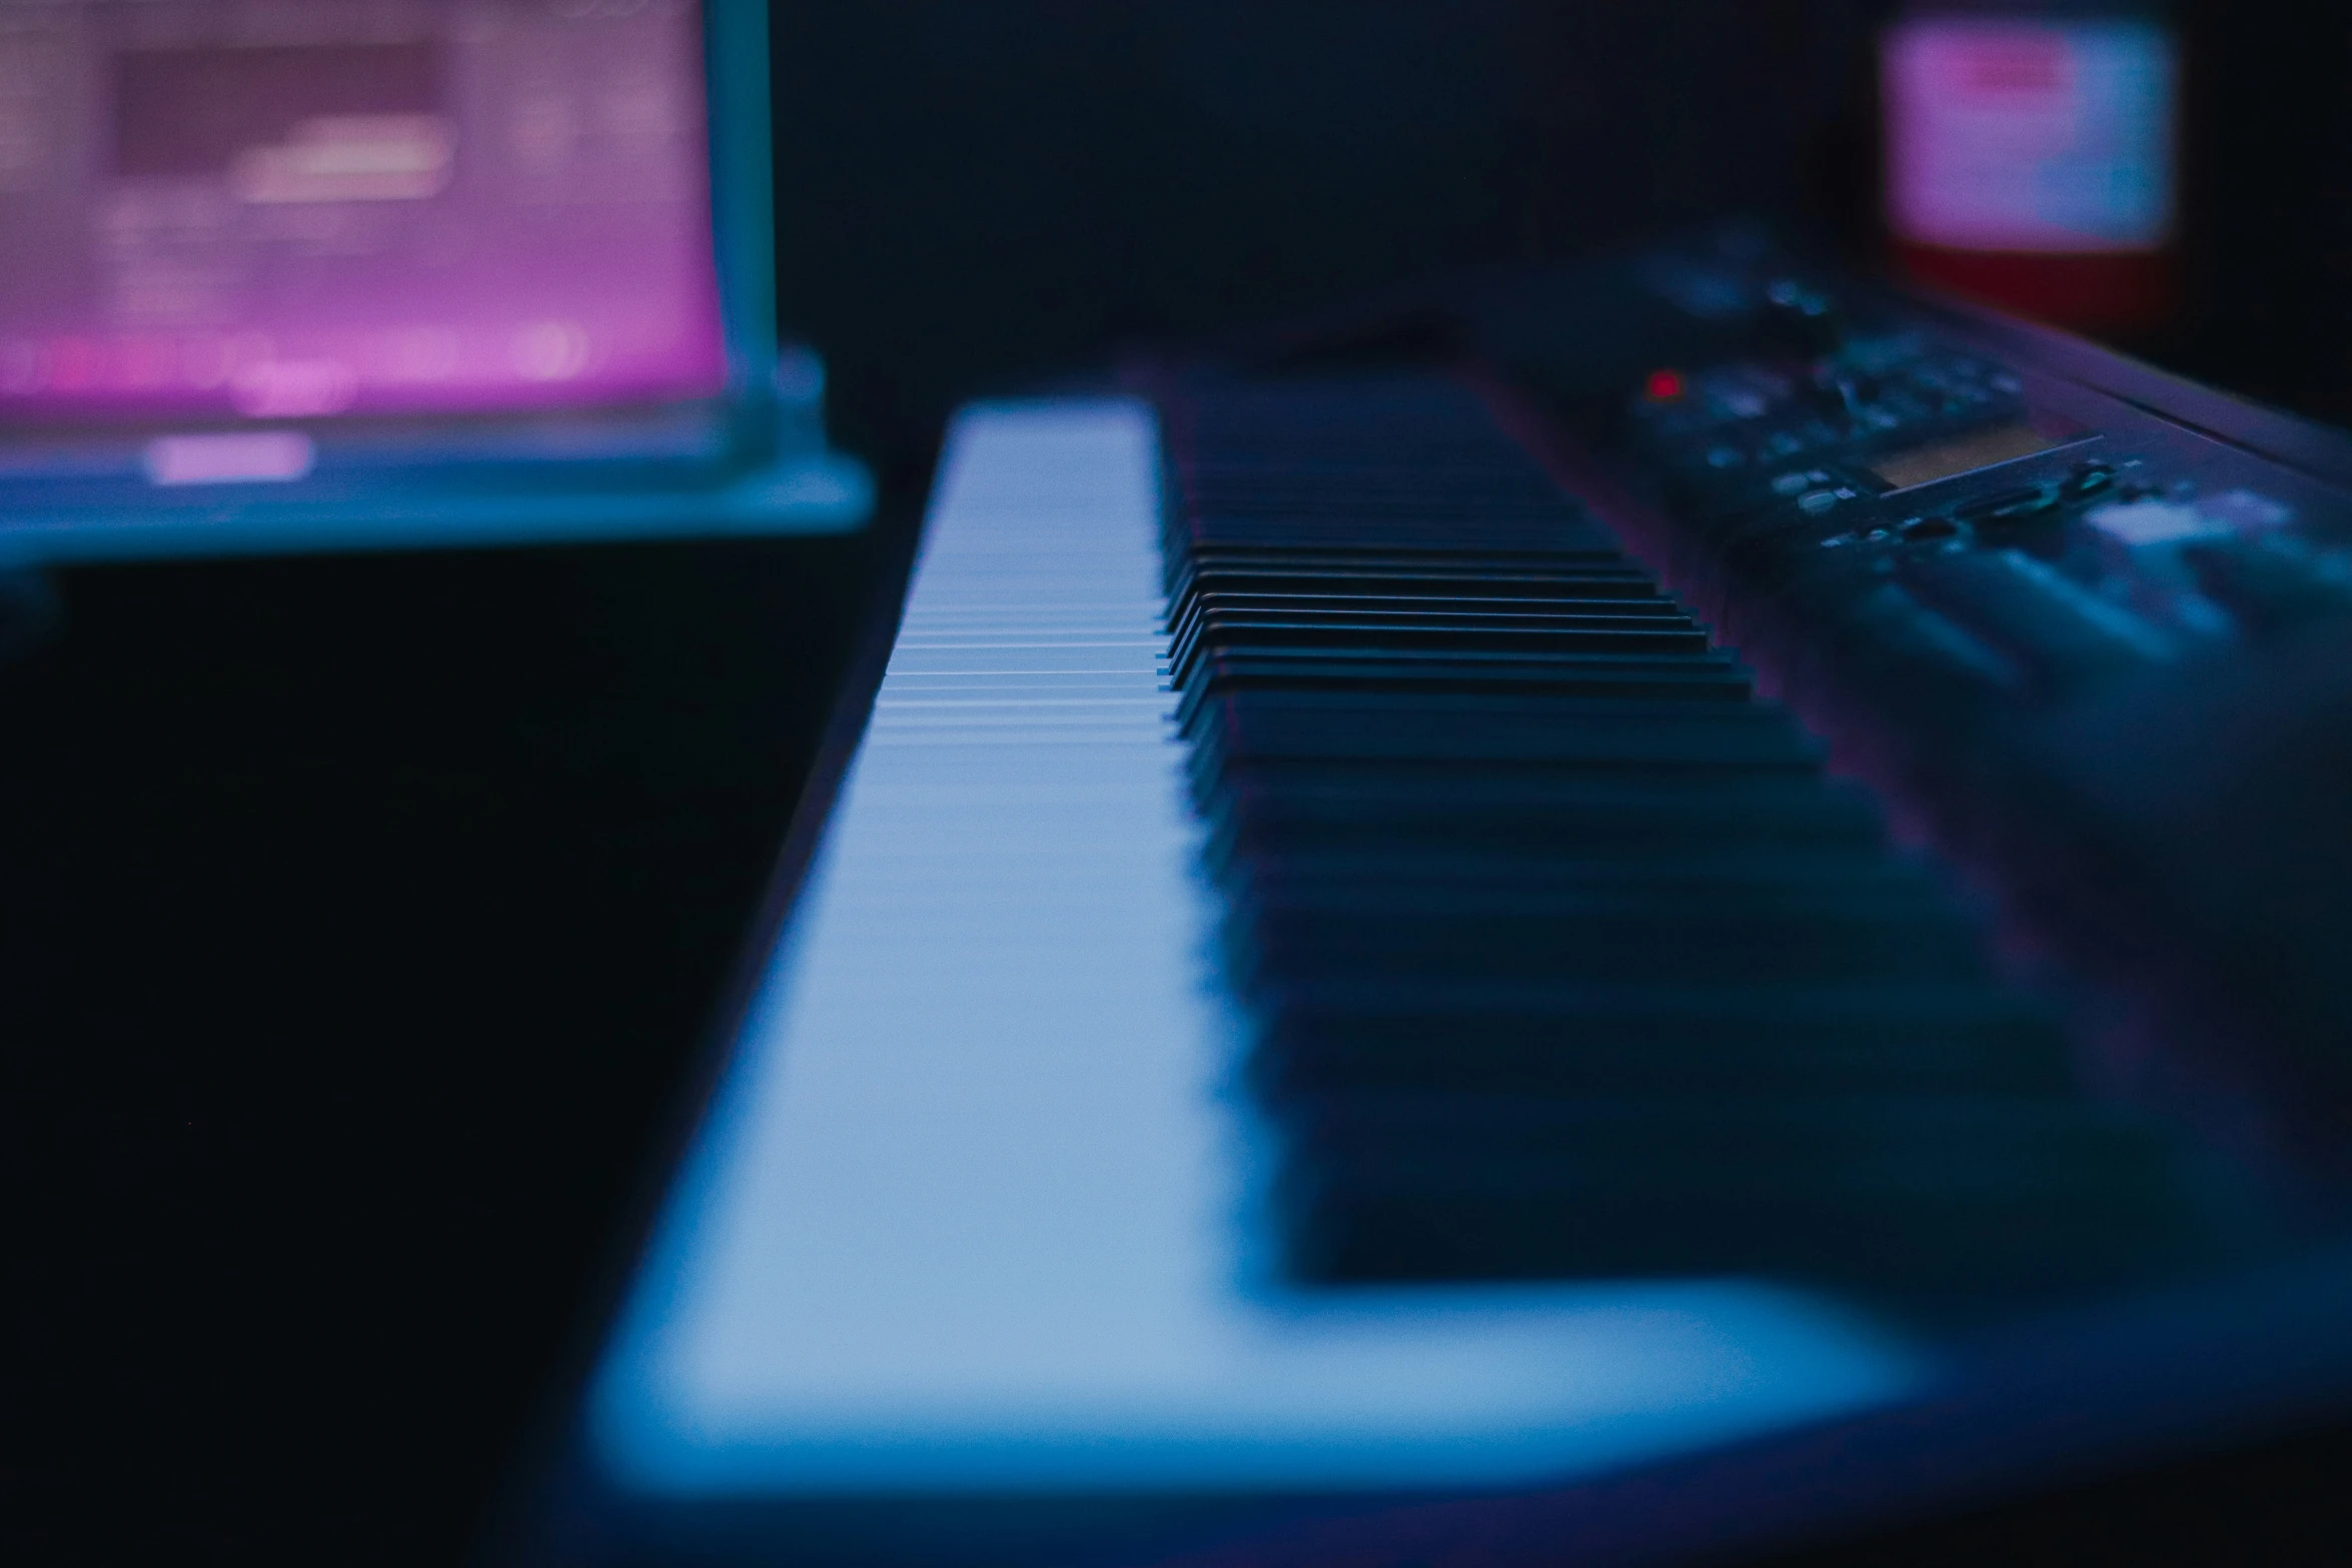
[[[788, 0], [781, 289], [868, 449], [1141, 336], [1752, 212], [1867, 259], [1893, 0]], [[2352, 19], [2185, 0], [2187, 296], [2133, 343], [2352, 414]]]

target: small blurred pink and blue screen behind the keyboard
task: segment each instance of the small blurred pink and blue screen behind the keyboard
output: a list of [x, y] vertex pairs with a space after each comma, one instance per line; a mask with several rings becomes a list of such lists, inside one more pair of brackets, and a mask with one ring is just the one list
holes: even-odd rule
[[1886, 216], [1978, 252], [2147, 252], [2173, 228], [2171, 35], [1919, 19], [1886, 33]]

